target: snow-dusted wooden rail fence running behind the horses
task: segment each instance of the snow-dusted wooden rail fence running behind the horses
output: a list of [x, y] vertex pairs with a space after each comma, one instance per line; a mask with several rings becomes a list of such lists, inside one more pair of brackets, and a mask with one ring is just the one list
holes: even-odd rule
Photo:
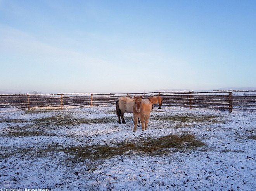
[[[254, 93], [255, 92], [255, 93]], [[242, 94], [241, 94], [242, 93]], [[163, 106], [190, 109], [250, 109], [256, 110], [256, 90], [221, 90], [211, 92], [142, 92], [142, 93], [59, 93], [59, 94], [0, 94], [0, 108], [68, 107], [115, 104], [120, 96], [152, 95], [163, 97]]]

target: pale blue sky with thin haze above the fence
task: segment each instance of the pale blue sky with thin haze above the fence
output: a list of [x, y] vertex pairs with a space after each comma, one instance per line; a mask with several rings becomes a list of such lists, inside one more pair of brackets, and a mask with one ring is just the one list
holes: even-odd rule
[[0, 90], [256, 87], [256, 0], [0, 0]]

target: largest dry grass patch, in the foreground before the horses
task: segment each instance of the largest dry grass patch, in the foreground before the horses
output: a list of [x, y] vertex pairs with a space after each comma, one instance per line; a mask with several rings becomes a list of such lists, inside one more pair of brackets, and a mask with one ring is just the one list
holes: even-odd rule
[[73, 155], [76, 159], [106, 159], [116, 155], [129, 155], [132, 153], [145, 153], [149, 155], [161, 155], [170, 152], [169, 148], [176, 150], [192, 149], [204, 146], [194, 135], [168, 135], [159, 138], [148, 137], [145, 140], [133, 142], [121, 142], [116, 146], [93, 145], [85, 147], [69, 147], [60, 151]]

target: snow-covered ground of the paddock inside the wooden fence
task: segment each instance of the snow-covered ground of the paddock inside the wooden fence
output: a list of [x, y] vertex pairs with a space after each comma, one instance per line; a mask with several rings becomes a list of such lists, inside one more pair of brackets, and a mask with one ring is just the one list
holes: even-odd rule
[[[152, 110], [148, 130], [139, 125], [135, 133], [132, 113], [125, 120], [117, 123], [114, 106], [0, 109], [0, 188], [256, 190], [255, 112], [162, 107]], [[168, 135], [205, 145], [93, 153]]]

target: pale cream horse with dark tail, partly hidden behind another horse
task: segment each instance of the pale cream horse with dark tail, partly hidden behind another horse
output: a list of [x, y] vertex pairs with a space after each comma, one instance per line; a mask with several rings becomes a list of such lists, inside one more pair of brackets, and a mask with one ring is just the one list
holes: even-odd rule
[[124, 114], [125, 112], [131, 113], [132, 112], [132, 108], [134, 105], [133, 102], [133, 98], [131, 98], [130, 96], [122, 96], [119, 97], [118, 100], [116, 101], [116, 115], [118, 116], [118, 123], [121, 124], [120, 121], [120, 116], [122, 118], [122, 123], [125, 123], [125, 119], [124, 119]]

